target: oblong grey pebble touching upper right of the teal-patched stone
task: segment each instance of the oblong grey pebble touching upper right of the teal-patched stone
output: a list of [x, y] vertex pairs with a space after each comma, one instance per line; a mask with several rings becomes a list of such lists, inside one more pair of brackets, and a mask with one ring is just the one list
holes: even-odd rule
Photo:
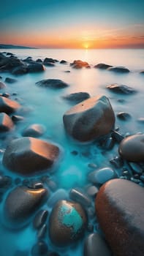
[[91, 205], [91, 199], [88, 197], [88, 195], [86, 195], [86, 193], [80, 191], [80, 189], [71, 189], [69, 192], [69, 197], [83, 206], [88, 207]]

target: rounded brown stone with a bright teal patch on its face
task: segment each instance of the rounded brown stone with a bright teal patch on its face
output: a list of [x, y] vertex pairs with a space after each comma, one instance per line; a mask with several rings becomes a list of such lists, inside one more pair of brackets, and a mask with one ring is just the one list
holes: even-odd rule
[[49, 235], [56, 246], [67, 246], [83, 236], [86, 213], [79, 203], [60, 200], [50, 214]]

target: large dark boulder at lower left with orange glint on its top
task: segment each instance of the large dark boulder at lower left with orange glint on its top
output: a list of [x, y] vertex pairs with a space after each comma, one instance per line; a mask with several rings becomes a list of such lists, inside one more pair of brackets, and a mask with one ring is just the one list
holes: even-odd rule
[[[16, 187], [7, 195], [4, 203], [6, 225], [18, 229], [31, 221], [31, 217], [48, 198], [47, 189]], [[16, 203], [15, 203], [16, 202]]]

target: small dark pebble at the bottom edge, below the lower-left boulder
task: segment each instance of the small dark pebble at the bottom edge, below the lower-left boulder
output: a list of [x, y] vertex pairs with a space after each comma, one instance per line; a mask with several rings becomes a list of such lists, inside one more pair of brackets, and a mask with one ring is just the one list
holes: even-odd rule
[[45, 241], [38, 241], [37, 244], [35, 244], [31, 249], [32, 256], [46, 256], [47, 252], [48, 245], [45, 243]]

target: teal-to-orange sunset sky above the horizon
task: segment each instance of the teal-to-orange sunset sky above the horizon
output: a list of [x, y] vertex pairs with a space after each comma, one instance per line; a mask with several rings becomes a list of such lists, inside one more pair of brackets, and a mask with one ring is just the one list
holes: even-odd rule
[[144, 0], [1, 0], [0, 43], [144, 48]]

